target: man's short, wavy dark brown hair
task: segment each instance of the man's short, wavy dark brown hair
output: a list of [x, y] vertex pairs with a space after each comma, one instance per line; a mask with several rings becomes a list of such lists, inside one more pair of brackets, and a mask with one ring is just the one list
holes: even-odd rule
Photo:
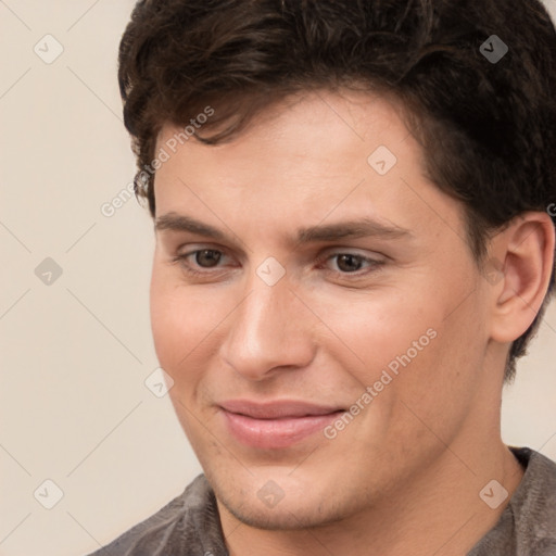
[[[492, 40], [507, 45], [501, 60], [485, 55]], [[153, 217], [165, 124], [192, 129], [180, 142], [215, 144], [270, 103], [316, 88], [401, 101], [429, 178], [465, 207], [480, 267], [492, 231], [556, 200], [556, 31], [538, 0], [140, 0], [118, 64], [135, 191]], [[509, 350], [506, 381], [554, 281], [553, 268], [542, 307]]]

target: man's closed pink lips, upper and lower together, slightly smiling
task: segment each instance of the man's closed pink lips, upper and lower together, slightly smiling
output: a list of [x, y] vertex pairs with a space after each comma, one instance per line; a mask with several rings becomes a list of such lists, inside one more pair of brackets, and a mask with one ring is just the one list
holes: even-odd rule
[[226, 425], [242, 444], [261, 450], [285, 448], [321, 431], [344, 412], [299, 401], [254, 403], [232, 400], [220, 404]]

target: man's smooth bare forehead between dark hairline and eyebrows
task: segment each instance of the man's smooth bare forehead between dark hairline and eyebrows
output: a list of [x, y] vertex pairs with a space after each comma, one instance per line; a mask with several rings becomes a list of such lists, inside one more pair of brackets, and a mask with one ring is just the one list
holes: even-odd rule
[[[292, 97], [216, 146], [176, 141], [181, 130], [166, 125], [159, 137], [156, 150], [169, 159], [156, 172], [157, 216], [193, 213], [217, 224], [226, 215], [260, 233], [292, 220], [339, 217], [375, 217], [408, 229], [445, 228], [440, 214], [460, 220], [459, 205], [425, 177], [401, 106], [381, 97]], [[201, 125], [199, 132], [213, 129]]]

